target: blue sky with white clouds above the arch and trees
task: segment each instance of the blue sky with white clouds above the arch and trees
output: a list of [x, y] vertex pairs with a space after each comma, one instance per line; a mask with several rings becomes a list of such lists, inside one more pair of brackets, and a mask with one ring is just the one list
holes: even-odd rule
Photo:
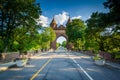
[[42, 15], [39, 22], [43, 26], [49, 26], [53, 17], [58, 25], [65, 25], [71, 19], [86, 21], [93, 12], [107, 12], [103, 2], [106, 0], [36, 0], [40, 3]]

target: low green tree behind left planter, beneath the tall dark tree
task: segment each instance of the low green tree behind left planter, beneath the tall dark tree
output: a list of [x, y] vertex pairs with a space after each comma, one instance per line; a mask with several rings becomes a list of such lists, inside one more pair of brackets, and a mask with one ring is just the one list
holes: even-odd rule
[[[36, 27], [34, 27], [36, 28]], [[20, 54], [26, 53], [28, 50], [40, 49], [41, 35], [38, 33], [38, 28], [35, 30], [28, 30], [24, 27], [16, 28], [12, 37], [13, 43], [10, 50], [19, 51]]]

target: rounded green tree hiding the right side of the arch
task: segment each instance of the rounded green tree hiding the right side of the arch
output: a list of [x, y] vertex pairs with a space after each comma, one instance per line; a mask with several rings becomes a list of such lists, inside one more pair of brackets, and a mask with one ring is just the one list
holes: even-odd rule
[[[68, 43], [74, 44], [74, 49], [81, 50], [84, 46], [84, 31], [85, 24], [80, 19], [74, 19], [66, 27], [66, 34], [68, 36]], [[81, 48], [82, 46], [82, 48]]]

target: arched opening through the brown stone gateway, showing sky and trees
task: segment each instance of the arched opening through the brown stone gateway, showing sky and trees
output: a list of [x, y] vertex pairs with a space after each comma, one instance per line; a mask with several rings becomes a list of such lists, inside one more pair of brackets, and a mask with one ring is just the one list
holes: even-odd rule
[[66, 39], [66, 37], [59, 36], [56, 39], [56, 46], [57, 46], [58, 49], [64, 49], [64, 48], [66, 48], [66, 45], [67, 45], [67, 39]]

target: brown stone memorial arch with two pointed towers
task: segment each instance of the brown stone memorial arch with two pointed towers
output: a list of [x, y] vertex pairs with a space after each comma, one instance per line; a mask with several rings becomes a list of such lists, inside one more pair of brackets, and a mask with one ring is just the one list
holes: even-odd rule
[[[70, 18], [68, 19], [68, 21], [67, 21], [67, 24], [70, 22]], [[66, 24], [66, 25], [67, 25]], [[68, 37], [67, 37], [67, 35], [66, 35], [66, 32], [65, 32], [65, 26], [63, 26], [63, 25], [60, 25], [60, 26], [57, 26], [57, 23], [56, 23], [56, 21], [54, 20], [54, 18], [53, 18], [53, 20], [52, 20], [52, 22], [50, 23], [50, 27], [55, 31], [55, 33], [56, 33], [56, 39], [53, 41], [53, 42], [51, 42], [51, 45], [50, 45], [50, 47], [51, 47], [51, 49], [54, 49], [54, 50], [56, 50], [57, 49], [57, 46], [56, 46], [56, 40], [59, 38], [59, 37], [61, 37], [61, 36], [63, 36], [64, 38], [66, 38], [66, 41], [68, 40]], [[67, 47], [67, 46], [66, 46]]]

